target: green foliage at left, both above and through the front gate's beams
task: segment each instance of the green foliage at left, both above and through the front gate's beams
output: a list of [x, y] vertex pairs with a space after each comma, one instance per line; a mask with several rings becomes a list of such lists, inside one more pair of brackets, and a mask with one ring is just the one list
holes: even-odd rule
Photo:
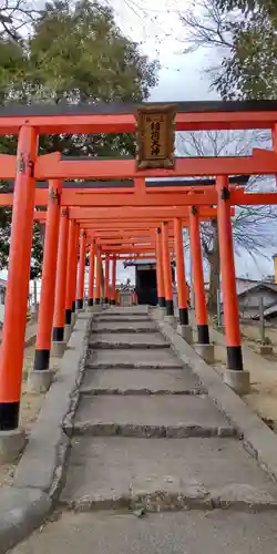
[[[0, 35], [0, 102], [142, 102], [156, 84], [157, 64], [116, 27], [111, 9], [95, 1], [47, 3], [27, 40]], [[13, 137], [0, 151], [14, 154]], [[39, 153], [120, 157], [134, 155], [133, 135], [41, 136]], [[4, 184], [3, 184], [4, 185]], [[0, 209], [0, 266], [7, 264], [10, 212]], [[34, 227], [32, 267], [40, 271], [41, 233]]]

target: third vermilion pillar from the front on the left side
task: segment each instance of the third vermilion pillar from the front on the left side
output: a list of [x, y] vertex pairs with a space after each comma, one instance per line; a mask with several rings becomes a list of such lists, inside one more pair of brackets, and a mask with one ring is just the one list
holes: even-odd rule
[[54, 322], [53, 322], [54, 342], [62, 342], [64, 338], [68, 246], [69, 246], [69, 211], [68, 208], [62, 208], [61, 220], [60, 220], [55, 298], [54, 298]]

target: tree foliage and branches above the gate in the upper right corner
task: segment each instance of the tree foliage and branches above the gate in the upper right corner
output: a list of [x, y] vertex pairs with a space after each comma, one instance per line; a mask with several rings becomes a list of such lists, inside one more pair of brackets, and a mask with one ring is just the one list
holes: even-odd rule
[[196, 0], [181, 20], [187, 52], [219, 53], [222, 63], [208, 72], [224, 100], [276, 99], [276, 0]]

